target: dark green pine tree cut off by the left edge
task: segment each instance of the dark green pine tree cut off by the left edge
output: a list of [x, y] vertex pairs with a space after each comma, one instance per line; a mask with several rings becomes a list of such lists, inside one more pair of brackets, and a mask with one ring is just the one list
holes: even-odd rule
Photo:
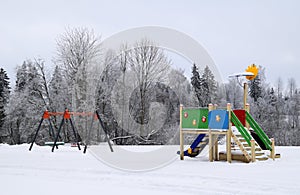
[[1, 137], [5, 134], [3, 129], [3, 124], [6, 118], [6, 106], [9, 102], [9, 78], [6, 71], [3, 68], [0, 68], [0, 143], [2, 142]]

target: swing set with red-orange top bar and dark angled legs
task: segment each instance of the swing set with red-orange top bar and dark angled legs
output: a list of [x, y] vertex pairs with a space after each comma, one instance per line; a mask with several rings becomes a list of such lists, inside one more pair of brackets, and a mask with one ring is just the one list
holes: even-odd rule
[[[52, 122], [51, 122], [51, 117], [53, 117], [53, 116], [62, 116], [62, 120], [61, 120], [61, 123], [59, 125], [59, 128], [57, 130], [56, 135], [55, 135], [54, 128], [53, 128], [53, 125], [52, 125]], [[91, 129], [92, 129], [94, 120], [99, 121], [99, 124], [100, 124], [100, 126], [102, 127], [102, 129], [103, 129], [103, 131], [105, 133], [105, 137], [106, 137], [106, 140], [107, 140], [108, 145], [110, 147], [110, 150], [111, 150], [111, 152], [113, 152], [113, 148], [112, 148], [112, 145], [111, 145], [110, 140], [109, 140], [107, 129], [106, 129], [103, 121], [101, 120], [101, 117], [100, 117], [100, 115], [99, 115], [99, 113], [98, 113], [97, 110], [95, 112], [70, 112], [68, 109], [66, 109], [64, 112], [49, 112], [48, 110], [44, 111], [43, 116], [42, 116], [42, 118], [40, 120], [40, 123], [38, 125], [38, 128], [37, 128], [37, 130], [35, 132], [35, 135], [33, 137], [33, 140], [31, 142], [31, 145], [29, 147], [29, 151], [32, 150], [33, 144], [35, 143], [35, 140], [36, 140], [36, 138], [38, 136], [38, 133], [39, 133], [39, 131], [41, 129], [41, 126], [42, 126], [42, 124], [43, 124], [43, 122], [45, 120], [47, 120], [48, 124], [49, 124], [49, 134], [50, 134], [50, 137], [54, 138], [52, 142], [51, 141], [45, 142], [45, 145], [52, 146], [52, 150], [51, 150], [52, 152], [54, 152], [55, 148], [58, 149], [59, 145], [64, 145], [64, 142], [58, 141], [58, 140], [60, 138], [61, 130], [62, 130], [64, 124], [67, 121], [71, 125], [71, 129], [72, 129], [73, 136], [75, 138], [76, 146], [78, 147], [78, 150], [81, 150], [79, 133], [78, 133], [78, 131], [76, 130], [76, 128], [74, 126], [74, 122], [72, 120], [72, 116], [93, 117], [93, 120], [91, 120], [92, 122], [91, 122], [90, 129], [88, 131], [87, 139], [86, 139], [86, 142], [84, 144], [83, 153], [86, 153], [87, 146], [89, 145], [90, 136], [91, 136]]]

